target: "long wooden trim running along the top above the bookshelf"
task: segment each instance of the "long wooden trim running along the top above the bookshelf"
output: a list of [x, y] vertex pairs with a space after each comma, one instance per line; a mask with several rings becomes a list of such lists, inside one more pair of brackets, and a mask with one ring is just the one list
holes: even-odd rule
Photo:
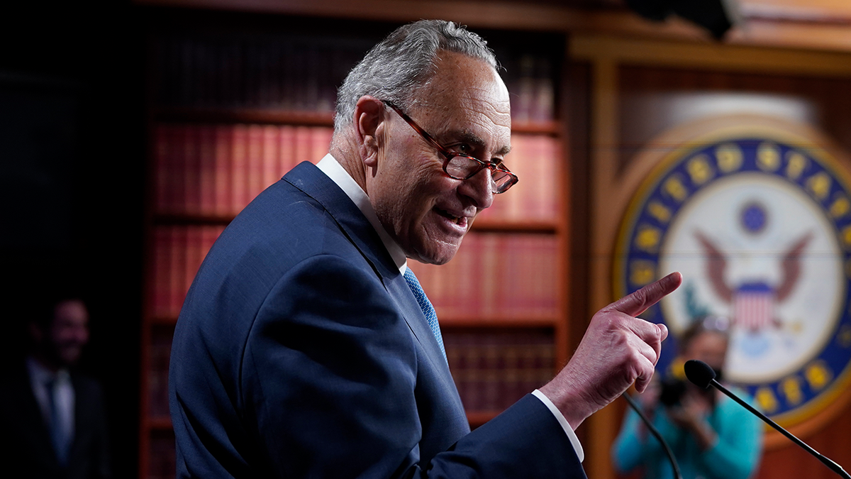
[[[762, 0], [763, 3], [766, 0]], [[824, 2], [825, 0], [820, 0]], [[786, 47], [815, 51], [851, 52], [851, 19], [812, 14], [791, 20], [799, 10], [766, 9], [745, 3], [744, 23], [717, 42], [699, 26], [672, 16], [665, 21], [645, 20], [626, 9], [581, 10], [551, 3], [470, 0], [133, 0], [151, 7], [231, 10], [357, 20], [405, 22], [440, 17], [476, 28], [501, 28], [548, 32], [622, 35], [633, 38], [671, 39], [708, 45]], [[770, 3], [770, 2], [769, 2]], [[806, 10], [808, 12], [809, 10]], [[820, 11], [820, 10], [813, 10]], [[778, 13], [780, 12], [780, 13]], [[845, 10], [840, 10], [844, 13]], [[848, 21], [845, 21], [848, 20]]]

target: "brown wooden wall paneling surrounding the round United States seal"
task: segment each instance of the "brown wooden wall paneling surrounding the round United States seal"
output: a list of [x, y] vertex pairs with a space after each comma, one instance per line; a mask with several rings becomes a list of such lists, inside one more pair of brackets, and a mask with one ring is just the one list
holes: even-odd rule
[[[573, 38], [570, 51], [574, 60], [588, 62], [591, 74], [591, 129], [586, 136], [591, 145], [587, 161], [592, 185], [587, 207], [588, 314], [612, 299], [608, 261], [612, 241], [623, 207], [637, 188], [635, 178], [648, 173], [645, 167], [638, 168], [644, 175], [637, 171], [636, 153], [670, 147], [664, 141], [651, 143], [661, 133], [715, 113], [762, 113], [807, 124], [840, 150], [851, 151], [848, 55], [604, 36]], [[574, 155], [573, 160], [583, 159]], [[573, 205], [575, 209], [582, 203], [574, 200]], [[803, 424], [808, 427], [793, 432], [847, 469], [851, 465], [851, 407], [842, 404], [837, 402], [837, 411], [826, 424], [811, 421]], [[624, 412], [624, 404], [616, 401], [583, 424], [588, 436], [585, 467], [590, 476], [615, 476], [608, 447]], [[784, 437], [770, 439], [758, 479], [833, 476]]]

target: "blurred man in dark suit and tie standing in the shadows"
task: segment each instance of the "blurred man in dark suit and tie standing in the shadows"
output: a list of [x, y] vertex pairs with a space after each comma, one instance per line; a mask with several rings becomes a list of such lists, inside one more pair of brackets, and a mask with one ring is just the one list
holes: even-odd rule
[[[7, 364], [0, 387], [0, 463], [15, 477], [110, 477], [100, 384], [77, 366], [89, 342], [89, 310], [74, 294], [15, 300], [27, 307], [25, 358]], [[13, 320], [16, 318], [13, 318]]]

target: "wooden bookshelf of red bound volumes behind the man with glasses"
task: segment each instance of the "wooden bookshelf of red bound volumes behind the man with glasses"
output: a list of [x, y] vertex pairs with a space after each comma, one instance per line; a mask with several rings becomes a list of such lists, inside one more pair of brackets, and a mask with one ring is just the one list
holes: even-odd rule
[[[263, 22], [255, 28], [253, 17], [240, 18], [227, 28], [219, 20], [206, 29], [203, 21], [191, 28], [163, 22], [151, 26], [147, 40], [140, 374], [140, 477], [146, 479], [174, 476], [168, 355], [203, 257], [262, 189], [295, 164], [327, 153], [335, 86], [396, 26], [363, 38], [304, 25], [300, 31]], [[521, 181], [477, 218], [452, 262], [411, 267], [435, 304], [448, 361], [476, 427], [545, 384], [568, 359], [568, 231], [557, 113], [564, 38], [473, 30], [506, 68], [513, 129], [506, 162]], [[532, 47], [541, 40], [551, 46]]]

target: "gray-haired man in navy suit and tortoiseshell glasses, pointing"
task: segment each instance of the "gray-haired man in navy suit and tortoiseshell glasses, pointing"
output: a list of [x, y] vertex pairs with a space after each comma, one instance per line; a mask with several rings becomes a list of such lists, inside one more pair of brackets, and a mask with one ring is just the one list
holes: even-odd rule
[[665, 326], [601, 310], [556, 378], [470, 431], [408, 258], [446, 263], [516, 177], [508, 91], [481, 38], [403, 26], [338, 95], [330, 153], [209, 251], [174, 333], [180, 477], [585, 477], [574, 429], [652, 377]]

